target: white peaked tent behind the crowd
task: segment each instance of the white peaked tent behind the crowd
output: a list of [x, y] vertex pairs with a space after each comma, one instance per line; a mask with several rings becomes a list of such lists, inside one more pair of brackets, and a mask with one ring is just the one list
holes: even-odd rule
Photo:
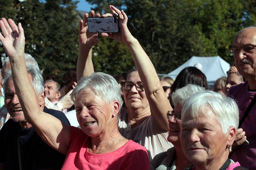
[[214, 57], [191, 57], [188, 61], [182, 64], [180, 67], [176, 68], [172, 72], [168, 73], [166, 76], [172, 77], [175, 79], [180, 71], [185, 68], [192, 66], [194, 67], [196, 64], [202, 66], [201, 71], [207, 77], [207, 81], [211, 87], [213, 87], [214, 81], [220, 78], [221, 76], [227, 76], [227, 71], [230, 68], [228, 62], [220, 58], [220, 56]]

